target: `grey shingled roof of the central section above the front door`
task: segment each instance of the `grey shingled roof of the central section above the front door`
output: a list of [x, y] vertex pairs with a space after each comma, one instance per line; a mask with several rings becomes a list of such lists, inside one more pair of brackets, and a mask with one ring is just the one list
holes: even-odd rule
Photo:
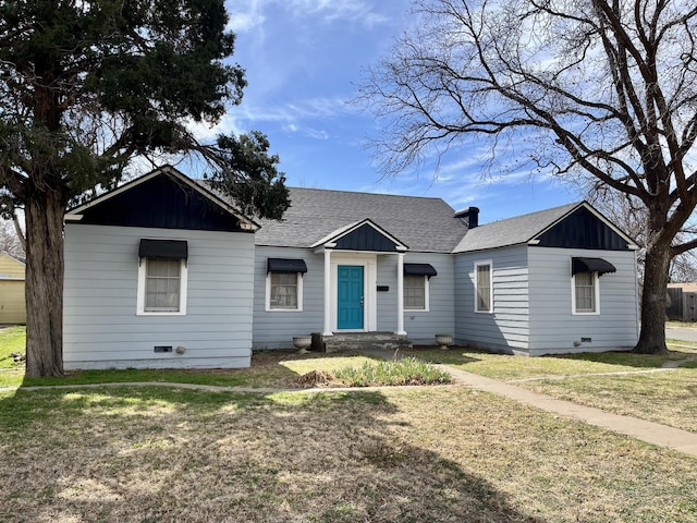
[[261, 220], [256, 245], [310, 247], [369, 219], [412, 252], [451, 253], [467, 230], [441, 198], [290, 187], [290, 199], [282, 221]]

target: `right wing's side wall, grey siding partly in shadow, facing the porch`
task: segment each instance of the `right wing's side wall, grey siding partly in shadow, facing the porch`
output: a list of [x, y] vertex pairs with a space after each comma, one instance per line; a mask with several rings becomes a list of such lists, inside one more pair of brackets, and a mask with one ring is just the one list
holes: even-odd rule
[[[475, 263], [491, 262], [493, 312], [475, 312]], [[530, 337], [526, 246], [455, 256], [455, 341], [502, 352], [527, 352]]]

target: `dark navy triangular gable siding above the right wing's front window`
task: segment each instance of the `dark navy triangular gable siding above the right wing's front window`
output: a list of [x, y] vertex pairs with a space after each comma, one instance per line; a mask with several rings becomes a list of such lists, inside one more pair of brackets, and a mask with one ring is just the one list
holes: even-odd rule
[[627, 242], [585, 207], [538, 236], [542, 247], [628, 251]]

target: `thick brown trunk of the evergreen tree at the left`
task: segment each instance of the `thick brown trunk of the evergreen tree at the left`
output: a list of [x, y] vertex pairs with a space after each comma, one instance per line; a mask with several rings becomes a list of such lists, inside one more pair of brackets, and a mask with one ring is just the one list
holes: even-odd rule
[[26, 375], [63, 375], [63, 212], [53, 192], [27, 198]]

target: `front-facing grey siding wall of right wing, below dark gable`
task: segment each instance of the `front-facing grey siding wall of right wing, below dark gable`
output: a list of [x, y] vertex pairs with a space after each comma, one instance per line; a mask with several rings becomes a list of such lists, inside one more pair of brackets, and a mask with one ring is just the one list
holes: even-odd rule
[[[530, 355], [627, 350], [636, 344], [638, 292], [633, 251], [528, 248]], [[574, 256], [603, 258], [616, 268], [599, 278], [600, 314], [572, 314]]]

